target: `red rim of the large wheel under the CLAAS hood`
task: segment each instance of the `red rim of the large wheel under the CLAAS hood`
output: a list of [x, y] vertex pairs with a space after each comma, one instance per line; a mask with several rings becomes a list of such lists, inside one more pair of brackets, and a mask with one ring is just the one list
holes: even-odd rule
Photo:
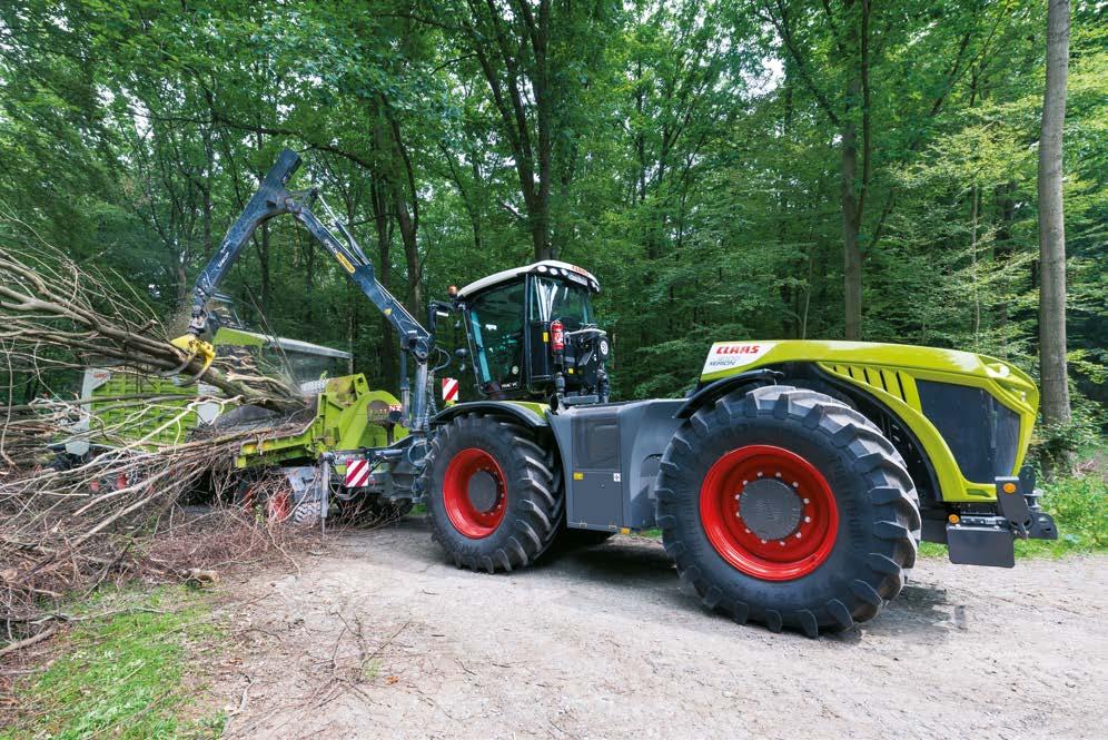
[[[761, 478], [787, 485], [800, 506], [792, 529], [774, 539], [761, 536], [742, 519], [745, 486]], [[715, 461], [701, 484], [700, 517], [721, 558], [764, 581], [791, 581], [814, 571], [831, 554], [839, 531], [827, 478], [800, 455], [770, 445], [740, 447]]]

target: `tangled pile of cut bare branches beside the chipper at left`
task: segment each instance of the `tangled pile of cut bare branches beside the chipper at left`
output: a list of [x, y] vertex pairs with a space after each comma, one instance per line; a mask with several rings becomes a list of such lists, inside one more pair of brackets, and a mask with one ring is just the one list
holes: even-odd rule
[[[279, 555], [294, 536], [235, 505], [189, 513], [198, 499], [234, 503], [243, 442], [285, 428], [184, 431], [204, 404], [263, 406], [289, 418], [304, 398], [241, 365], [217, 359], [204, 368], [127, 290], [119, 276], [0, 223], [0, 642], [46, 633], [65, 600], [102, 583], [180, 579]], [[93, 361], [204, 391], [98, 397], [93, 414], [80, 398]], [[110, 426], [107, 407], [116, 412]], [[151, 410], [160, 421], [147, 430]], [[80, 452], [67, 452], [72, 443]]]

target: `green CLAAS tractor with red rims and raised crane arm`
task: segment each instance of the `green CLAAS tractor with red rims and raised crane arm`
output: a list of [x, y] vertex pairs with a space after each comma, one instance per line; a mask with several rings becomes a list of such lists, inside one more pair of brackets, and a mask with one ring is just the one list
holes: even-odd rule
[[[507, 269], [431, 302], [424, 326], [317, 191], [285, 188], [298, 164], [286, 150], [263, 180], [201, 273], [176, 343], [207, 355], [215, 286], [280, 214], [388, 317], [404, 352], [387, 417], [356, 406], [363, 378], [362, 395], [320, 398], [295, 440], [267, 438], [238, 461], [317, 471], [299, 505], [323, 517], [336, 499], [423, 503], [448, 561], [488, 573], [526, 568], [561, 539], [660, 529], [706, 608], [810, 637], [875, 616], [921, 541], [946, 544], [954, 563], [1011, 568], [1015, 539], [1057, 537], [1023, 466], [1038, 392], [1008, 363], [892, 344], [719, 342], [684, 397], [612, 401], [595, 276], [556, 260]], [[451, 317], [466, 343], [453, 357], [436, 343]], [[439, 410], [435, 374], [455, 361], [479, 397]], [[335, 404], [345, 421], [324, 423]]]

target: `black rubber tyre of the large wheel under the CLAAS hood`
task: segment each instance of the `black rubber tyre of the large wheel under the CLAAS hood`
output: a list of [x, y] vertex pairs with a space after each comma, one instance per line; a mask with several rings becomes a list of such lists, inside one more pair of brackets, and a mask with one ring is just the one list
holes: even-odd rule
[[[703, 521], [702, 496], [714, 495], [706, 493], [714, 491], [706, 480], [709, 471], [729, 455], [755, 448], [784, 450], [804, 461], [823, 476], [824, 495], [833, 499], [829, 509], [837, 512], [837, 526], [823, 517], [824, 532], [834, 533], [833, 539], [823, 537], [830, 549], [814, 570], [798, 571], [795, 578], [773, 571], [775, 578], [766, 579], [761, 571], [740, 570], [713, 545], [710, 523]], [[751, 491], [745, 480], [741, 483], [744, 494]], [[719, 490], [730, 496], [726, 486]], [[756, 513], [752, 511], [751, 517]], [[759, 622], [774, 632], [797, 629], [812, 638], [873, 619], [900, 593], [916, 562], [920, 529], [916, 487], [892, 444], [857, 411], [792, 386], [736, 392], [698, 410], [674, 433], [662, 458], [656, 515], [662, 542], [682, 581], [706, 608], [739, 623]], [[726, 526], [730, 520], [724, 514], [720, 521]], [[801, 526], [807, 525], [794, 531]], [[749, 535], [751, 530], [745, 532]], [[734, 536], [738, 542], [745, 535]], [[769, 536], [772, 545], [778, 535]], [[783, 535], [782, 546], [793, 544], [784, 542], [790, 536]], [[761, 543], [765, 546], [766, 540]]]

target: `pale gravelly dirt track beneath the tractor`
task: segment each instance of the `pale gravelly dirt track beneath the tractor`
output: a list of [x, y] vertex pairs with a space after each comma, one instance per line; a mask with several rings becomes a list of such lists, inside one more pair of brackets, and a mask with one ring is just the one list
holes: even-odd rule
[[235, 588], [229, 737], [1108, 736], [1105, 558], [926, 560], [819, 640], [706, 614], [637, 539], [491, 576], [409, 519], [299, 561]]

